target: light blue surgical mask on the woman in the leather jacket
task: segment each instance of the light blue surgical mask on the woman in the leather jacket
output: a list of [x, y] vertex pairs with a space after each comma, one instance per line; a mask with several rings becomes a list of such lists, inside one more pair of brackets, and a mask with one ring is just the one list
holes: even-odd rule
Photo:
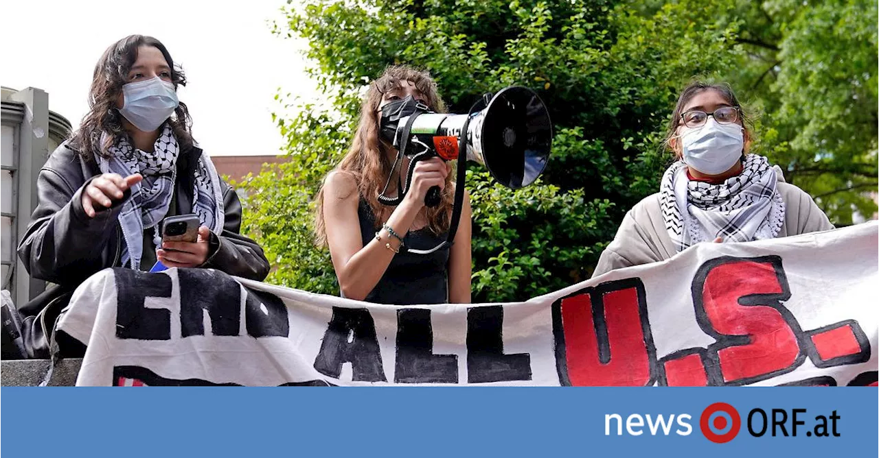
[[122, 94], [125, 104], [119, 112], [143, 132], [158, 129], [180, 104], [174, 85], [158, 76], [147, 81], [129, 82], [122, 86]]

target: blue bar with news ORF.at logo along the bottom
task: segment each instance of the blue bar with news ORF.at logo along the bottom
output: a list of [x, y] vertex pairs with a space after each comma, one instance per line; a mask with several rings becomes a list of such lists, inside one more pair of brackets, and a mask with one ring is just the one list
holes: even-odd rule
[[[827, 456], [868, 388], [0, 389], [0, 456]], [[794, 424], [796, 423], [796, 425]]]

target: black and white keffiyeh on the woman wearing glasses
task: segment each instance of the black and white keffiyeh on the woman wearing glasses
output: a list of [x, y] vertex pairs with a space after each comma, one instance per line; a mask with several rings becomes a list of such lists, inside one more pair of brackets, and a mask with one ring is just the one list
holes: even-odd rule
[[665, 229], [678, 251], [717, 237], [723, 241], [772, 239], [784, 224], [778, 172], [765, 157], [748, 154], [742, 173], [720, 184], [686, 176], [677, 161], [665, 170], [659, 204]]

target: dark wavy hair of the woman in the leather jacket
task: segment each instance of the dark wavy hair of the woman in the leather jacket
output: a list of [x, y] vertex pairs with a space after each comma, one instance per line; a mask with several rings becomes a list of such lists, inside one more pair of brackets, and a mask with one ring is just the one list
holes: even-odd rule
[[[109, 148], [120, 138], [131, 141], [128, 132], [122, 127], [122, 115], [116, 108], [116, 100], [122, 92], [122, 86], [127, 82], [128, 72], [134, 66], [134, 61], [137, 61], [140, 47], [155, 47], [162, 53], [165, 61], [168, 62], [168, 67], [171, 68], [171, 82], [174, 84], [174, 89], [186, 85], [183, 70], [174, 67], [174, 60], [171, 59], [168, 48], [153, 37], [129, 35], [108, 47], [95, 65], [89, 90], [89, 112], [85, 114], [79, 129], [71, 138], [72, 146], [86, 159], [91, 158], [93, 154], [109, 156]], [[181, 150], [193, 147], [193, 136], [190, 132], [193, 120], [189, 117], [189, 111], [183, 102], [174, 110], [168, 123], [177, 137]], [[101, 142], [101, 133], [107, 134], [104, 142]]]

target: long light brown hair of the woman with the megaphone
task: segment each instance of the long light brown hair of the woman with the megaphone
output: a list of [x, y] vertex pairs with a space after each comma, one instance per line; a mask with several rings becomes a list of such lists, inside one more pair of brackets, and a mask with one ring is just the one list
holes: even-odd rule
[[[335, 170], [350, 174], [357, 181], [360, 197], [367, 200], [370, 209], [375, 215], [375, 227], [381, 226], [381, 221], [387, 218], [392, 209], [380, 204], [378, 193], [388, 180], [393, 165], [388, 159], [388, 151], [393, 148], [379, 136], [379, 104], [381, 97], [392, 89], [399, 89], [403, 82], [411, 82], [425, 97], [427, 106], [432, 111], [446, 111], [442, 98], [437, 93], [437, 84], [431, 75], [425, 70], [412, 68], [407, 65], [396, 65], [386, 68], [384, 73], [369, 84], [363, 104], [360, 107], [360, 124], [348, 149], [348, 154], [342, 158]], [[394, 172], [395, 177], [399, 170]], [[436, 207], [426, 208], [427, 227], [432, 233], [440, 234], [448, 230], [452, 220], [452, 206], [454, 189], [452, 177], [454, 173], [446, 177], [446, 186], [443, 188], [442, 201]], [[395, 183], [396, 180], [391, 180]], [[323, 186], [317, 193], [317, 208], [315, 215], [316, 243], [319, 246], [326, 245], [326, 225], [323, 222]]]

